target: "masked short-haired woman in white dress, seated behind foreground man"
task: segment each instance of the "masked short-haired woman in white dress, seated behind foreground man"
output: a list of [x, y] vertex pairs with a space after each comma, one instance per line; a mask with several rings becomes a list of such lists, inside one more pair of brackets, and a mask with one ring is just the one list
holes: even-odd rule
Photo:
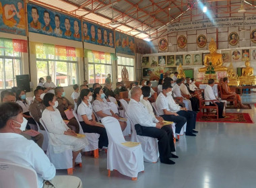
[[71, 149], [73, 152], [73, 168], [75, 167], [75, 158], [79, 152], [89, 145], [86, 137], [77, 138], [77, 134], [65, 124], [61, 118], [61, 113], [58, 106], [58, 101], [53, 93], [46, 93], [42, 101], [46, 109], [42, 112], [42, 121], [51, 137], [51, 144], [53, 144], [53, 151], [61, 153], [65, 150]]

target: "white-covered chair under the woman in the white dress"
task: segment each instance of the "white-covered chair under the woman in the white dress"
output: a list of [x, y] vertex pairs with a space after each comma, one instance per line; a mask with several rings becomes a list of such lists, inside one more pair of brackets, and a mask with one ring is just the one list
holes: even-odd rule
[[[43, 128], [47, 134], [47, 137], [49, 138], [49, 145], [48, 145], [46, 155], [48, 156], [50, 161], [54, 164], [55, 169], [67, 169], [67, 174], [73, 175], [72, 150], [68, 149], [68, 150], [65, 150], [65, 152], [55, 153], [53, 150], [53, 145], [51, 145], [51, 142], [53, 142], [53, 141], [51, 140], [51, 137], [49, 136], [49, 132], [48, 132], [46, 126], [44, 125], [42, 118], [40, 118], [40, 124], [43, 126]], [[79, 163], [79, 167], [82, 167], [82, 158], [81, 157], [82, 157], [82, 155], [81, 155], [81, 153], [79, 153], [77, 155], [77, 158], [75, 159], [75, 162]]]

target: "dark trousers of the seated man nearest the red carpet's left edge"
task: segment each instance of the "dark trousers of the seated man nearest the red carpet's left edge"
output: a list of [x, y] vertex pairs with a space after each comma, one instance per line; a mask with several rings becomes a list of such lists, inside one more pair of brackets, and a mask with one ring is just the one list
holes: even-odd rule
[[179, 115], [183, 116], [187, 120], [187, 130], [186, 133], [192, 133], [195, 129], [195, 121], [197, 120], [197, 113], [195, 111], [185, 111], [180, 110], [177, 112]]

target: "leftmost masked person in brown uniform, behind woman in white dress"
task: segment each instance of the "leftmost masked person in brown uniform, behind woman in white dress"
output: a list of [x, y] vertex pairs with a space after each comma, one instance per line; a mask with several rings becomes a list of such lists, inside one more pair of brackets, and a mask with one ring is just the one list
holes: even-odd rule
[[42, 91], [42, 89], [36, 89], [34, 91], [35, 98], [29, 107], [31, 116], [39, 124], [41, 130], [44, 130], [44, 128], [42, 127], [42, 125], [39, 122], [40, 118], [42, 118], [42, 111], [44, 111], [44, 109], [45, 109], [45, 106], [42, 103], [43, 96], [41, 97], [41, 95], [43, 95], [43, 92], [44, 91]]

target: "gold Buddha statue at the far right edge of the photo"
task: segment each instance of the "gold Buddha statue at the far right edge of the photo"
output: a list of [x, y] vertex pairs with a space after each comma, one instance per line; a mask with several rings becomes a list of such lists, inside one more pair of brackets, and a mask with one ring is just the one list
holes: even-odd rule
[[253, 75], [253, 67], [247, 59], [245, 67], [242, 68], [242, 75], [239, 77], [240, 85], [256, 85], [256, 76]]

